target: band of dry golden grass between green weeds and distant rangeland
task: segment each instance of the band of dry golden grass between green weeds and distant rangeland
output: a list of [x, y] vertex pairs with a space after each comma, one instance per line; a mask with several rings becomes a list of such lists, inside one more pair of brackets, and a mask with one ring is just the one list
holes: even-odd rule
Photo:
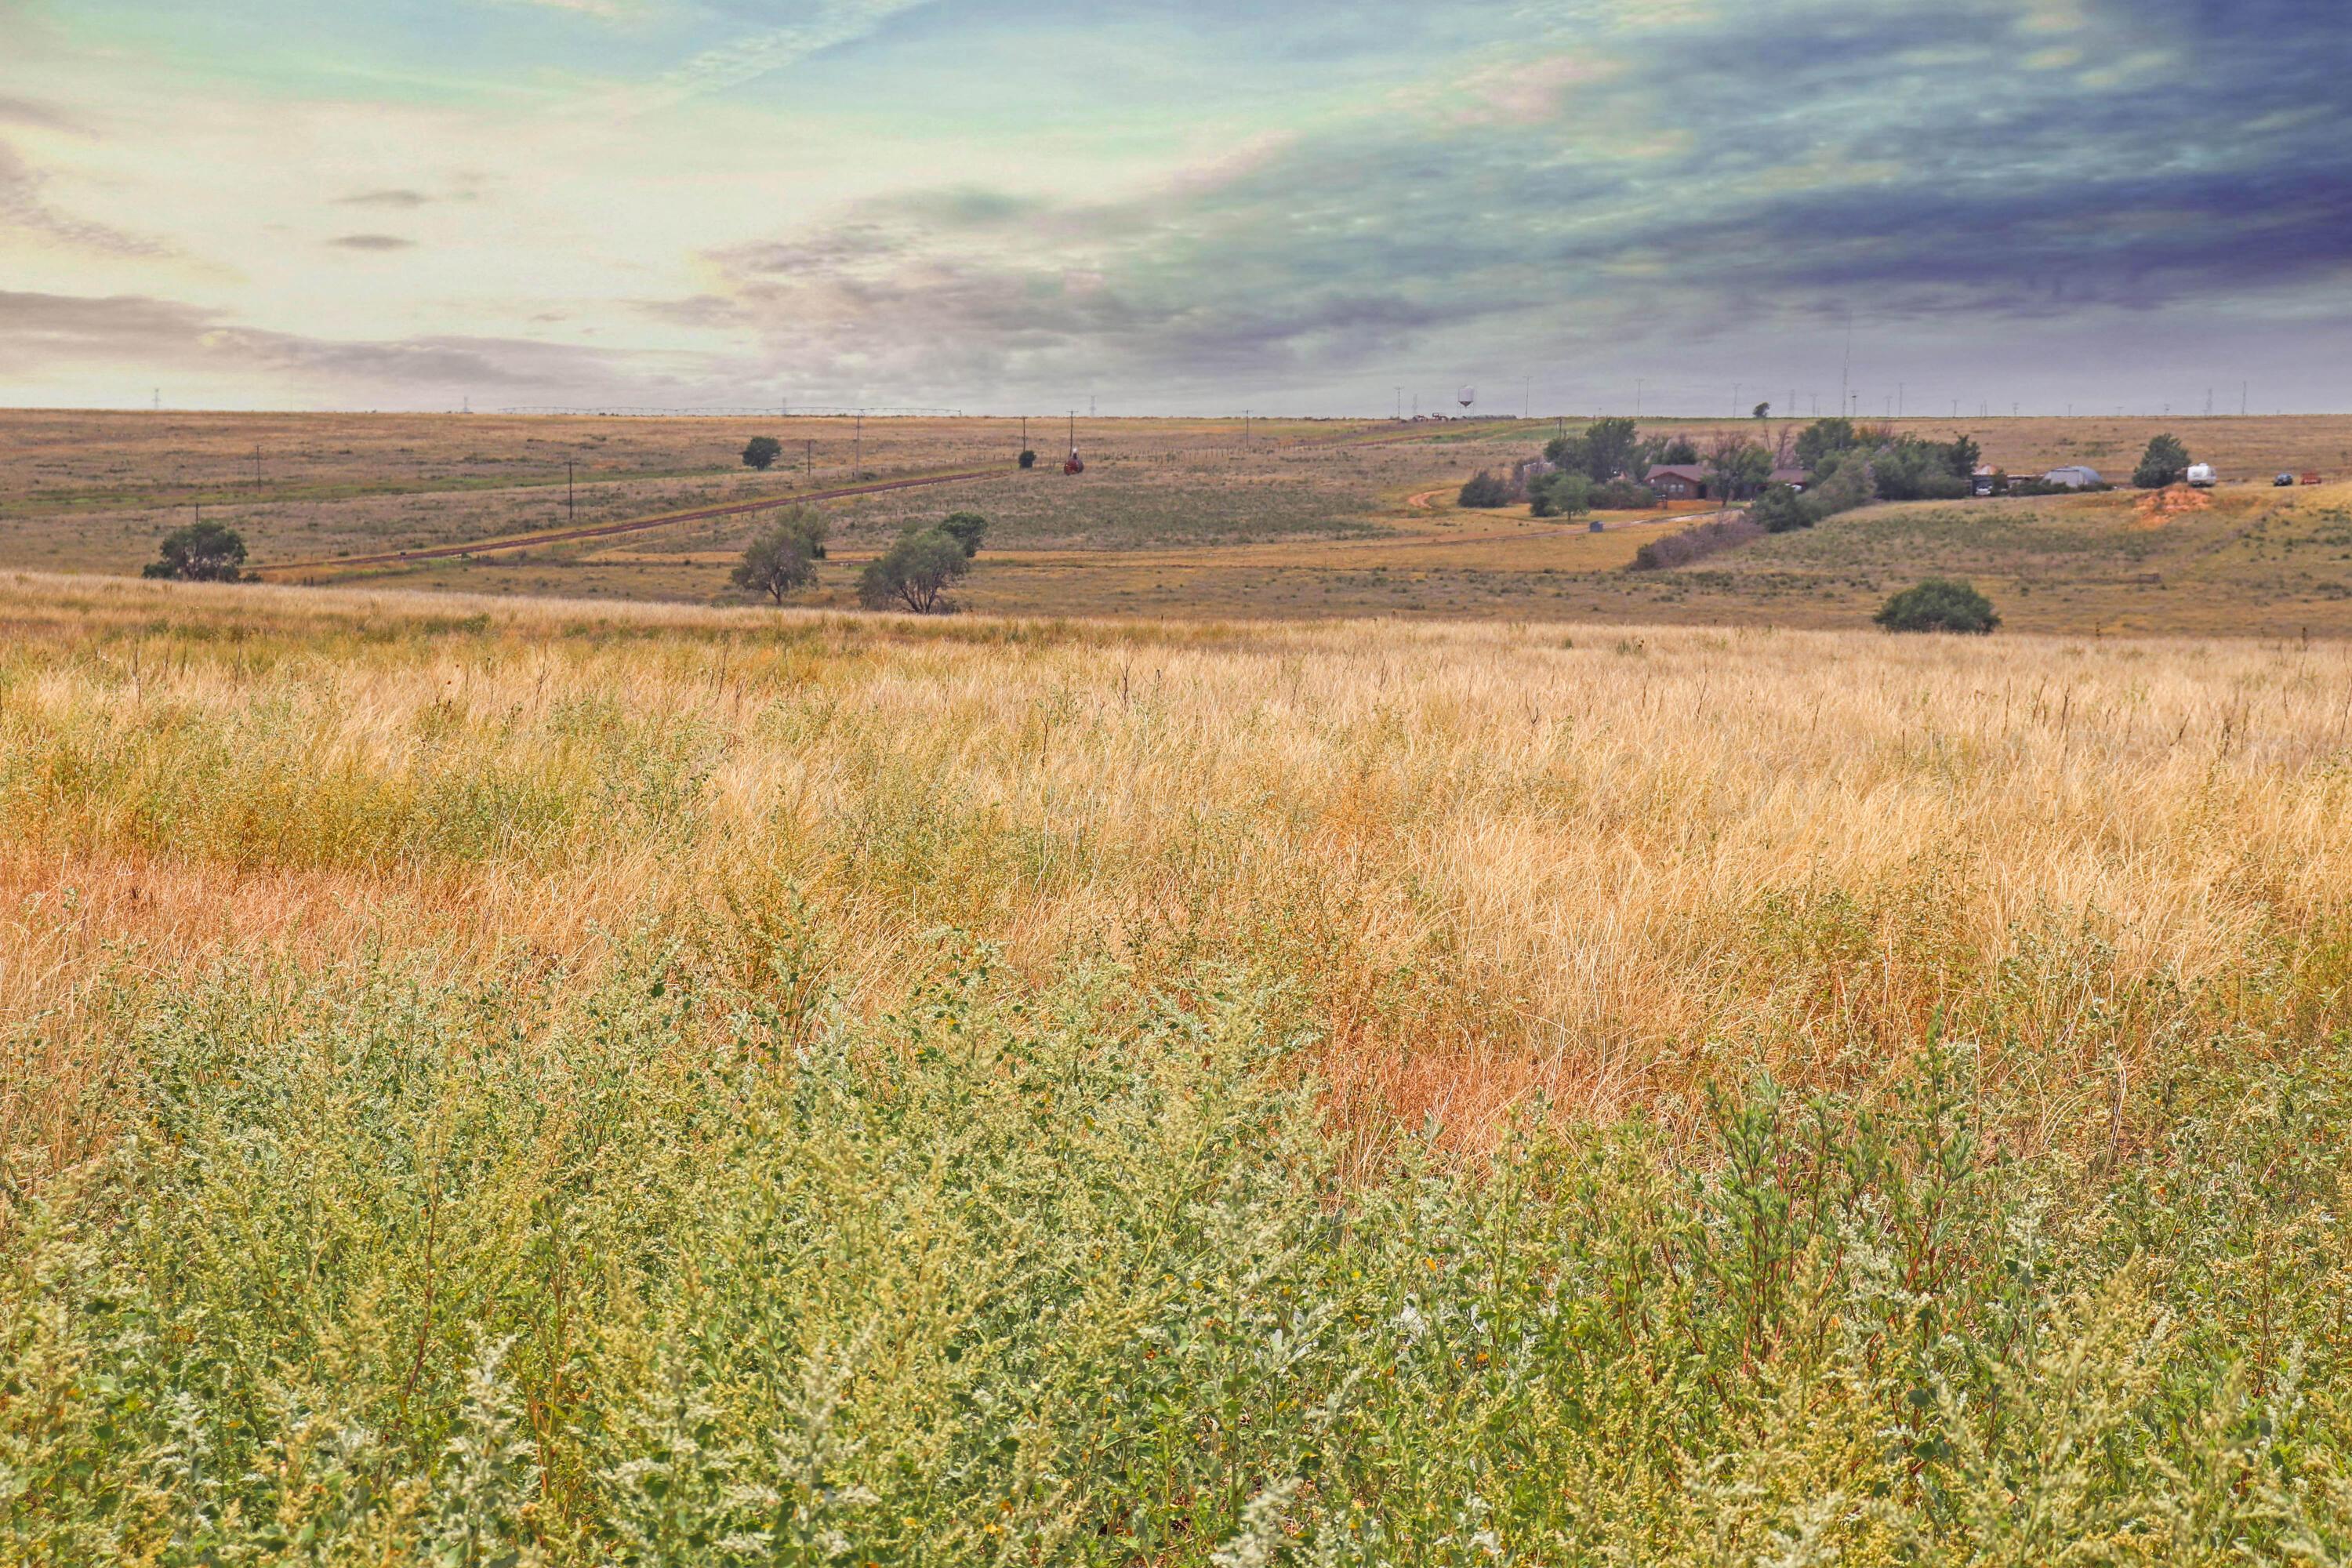
[[59, 1152], [103, 1133], [122, 966], [593, 971], [793, 898], [875, 1009], [938, 926], [1138, 987], [1221, 959], [1289, 987], [1341, 1114], [1472, 1145], [1531, 1093], [1679, 1121], [1733, 1065], [1870, 1084], [1938, 1011], [2011, 1133], [2063, 1140], [2227, 1039], [2234, 976], [2300, 966], [2288, 1037], [2347, 1018], [2340, 644], [42, 576], [0, 618], [0, 1006], [59, 1020], [0, 1140]]

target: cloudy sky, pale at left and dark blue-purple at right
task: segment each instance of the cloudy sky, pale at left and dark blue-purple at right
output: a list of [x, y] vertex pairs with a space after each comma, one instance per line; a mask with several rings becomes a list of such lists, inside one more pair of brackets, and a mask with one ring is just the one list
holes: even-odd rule
[[2345, 7], [0, 0], [0, 404], [2352, 409]]

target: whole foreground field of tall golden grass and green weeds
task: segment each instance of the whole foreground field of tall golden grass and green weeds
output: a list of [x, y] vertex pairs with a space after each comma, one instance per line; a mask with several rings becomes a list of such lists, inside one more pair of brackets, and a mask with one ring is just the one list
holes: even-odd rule
[[2352, 1547], [2352, 646], [0, 618], [9, 1561]]

